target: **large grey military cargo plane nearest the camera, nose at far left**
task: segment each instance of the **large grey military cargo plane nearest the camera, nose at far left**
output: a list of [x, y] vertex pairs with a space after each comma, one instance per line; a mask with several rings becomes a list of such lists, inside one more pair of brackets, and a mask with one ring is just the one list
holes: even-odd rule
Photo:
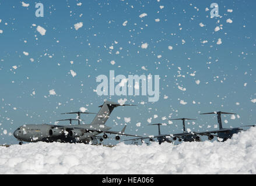
[[[89, 143], [93, 137], [103, 133], [103, 138], [107, 138], [107, 134], [116, 134], [115, 140], [120, 140], [120, 135], [138, 137], [138, 135], [125, 134], [125, 127], [120, 131], [110, 131], [111, 127], [105, 125], [111, 112], [117, 106], [134, 106], [134, 105], [120, 105], [115, 102], [106, 101], [99, 106], [101, 109], [90, 124], [78, 124], [69, 126], [59, 126], [52, 124], [26, 124], [17, 128], [13, 135], [19, 144], [26, 142], [83, 142]], [[80, 113], [79, 113], [80, 115]], [[80, 120], [80, 119], [79, 119]]]

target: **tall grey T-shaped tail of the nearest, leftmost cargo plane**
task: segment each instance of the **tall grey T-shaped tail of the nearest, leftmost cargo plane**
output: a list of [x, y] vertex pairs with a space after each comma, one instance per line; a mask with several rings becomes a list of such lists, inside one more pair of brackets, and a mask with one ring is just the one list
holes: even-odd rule
[[119, 103], [106, 101], [103, 105], [100, 105], [100, 111], [97, 113], [97, 116], [94, 118], [91, 124], [105, 124], [111, 112], [117, 106], [134, 106], [134, 105], [120, 105]]

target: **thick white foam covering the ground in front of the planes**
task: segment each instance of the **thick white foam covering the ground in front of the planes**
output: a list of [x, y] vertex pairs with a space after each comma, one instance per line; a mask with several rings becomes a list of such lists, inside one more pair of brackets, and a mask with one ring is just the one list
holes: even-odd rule
[[0, 174], [256, 174], [256, 128], [226, 142], [0, 147]]

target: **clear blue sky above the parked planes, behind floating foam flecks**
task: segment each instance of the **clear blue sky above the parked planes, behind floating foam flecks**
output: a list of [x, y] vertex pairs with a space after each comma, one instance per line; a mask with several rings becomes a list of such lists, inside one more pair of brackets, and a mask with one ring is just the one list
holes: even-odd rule
[[[34, 1], [25, 0], [27, 7], [22, 1], [0, 1], [1, 144], [16, 143], [9, 133], [23, 124], [54, 123], [64, 118], [60, 113], [81, 107], [97, 112], [104, 99], [138, 105], [115, 109], [107, 121], [119, 131], [124, 117], [130, 117], [127, 133], [138, 135], [157, 134], [147, 126], [150, 118], [151, 123], [168, 123], [170, 117], [191, 117], [197, 119], [188, 125], [191, 130], [211, 130], [215, 116], [199, 112], [219, 110], [240, 116], [223, 117], [225, 127], [256, 124], [255, 1], [214, 1], [220, 17], [213, 18], [213, 1], [38, 2], [44, 17], [35, 16]], [[147, 16], [139, 17], [142, 13]], [[83, 26], [76, 30], [79, 22]], [[148, 48], [141, 48], [144, 43]], [[159, 75], [159, 101], [98, 96], [96, 77], [109, 76], [110, 70], [126, 77]], [[90, 123], [93, 117], [83, 119]], [[181, 131], [181, 123], [163, 127], [167, 134]]]

